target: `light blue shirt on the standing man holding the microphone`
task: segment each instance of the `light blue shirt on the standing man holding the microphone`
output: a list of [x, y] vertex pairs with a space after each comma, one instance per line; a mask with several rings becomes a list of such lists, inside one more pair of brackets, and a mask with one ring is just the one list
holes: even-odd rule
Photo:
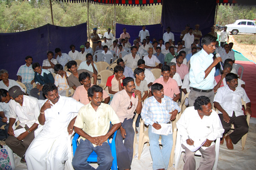
[[213, 54], [207, 54], [204, 49], [193, 55], [190, 59], [189, 81], [190, 87], [201, 90], [209, 90], [214, 88], [215, 67], [206, 78], [204, 71], [212, 64]]

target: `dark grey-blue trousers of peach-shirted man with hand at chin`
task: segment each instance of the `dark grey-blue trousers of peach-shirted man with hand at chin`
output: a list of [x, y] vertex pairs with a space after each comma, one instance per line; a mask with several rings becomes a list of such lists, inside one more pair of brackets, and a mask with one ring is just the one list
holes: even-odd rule
[[[127, 118], [122, 122], [122, 127], [125, 129], [125, 143], [120, 129], [116, 133], [116, 158], [119, 170], [131, 168], [131, 161], [133, 156], [133, 142], [134, 142], [134, 128], [132, 127], [133, 119]], [[112, 127], [112, 125], [111, 125]], [[111, 128], [110, 127], [110, 128]]]

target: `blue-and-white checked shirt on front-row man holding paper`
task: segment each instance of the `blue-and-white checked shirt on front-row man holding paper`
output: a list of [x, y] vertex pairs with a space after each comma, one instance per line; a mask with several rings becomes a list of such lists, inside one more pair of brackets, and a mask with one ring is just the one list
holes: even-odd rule
[[157, 122], [168, 123], [172, 116], [170, 113], [174, 110], [180, 112], [180, 107], [170, 97], [164, 96], [162, 102], [159, 103], [154, 96], [151, 96], [143, 103], [141, 117], [146, 125], [153, 125]]

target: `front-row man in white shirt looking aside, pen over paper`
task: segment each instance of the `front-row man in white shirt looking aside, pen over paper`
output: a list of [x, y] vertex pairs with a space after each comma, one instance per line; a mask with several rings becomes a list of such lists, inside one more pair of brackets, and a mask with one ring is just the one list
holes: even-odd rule
[[216, 154], [213, 141], [222, 136], [224, 129], [218, 114], [212, 111], [210, 99], [206, 96], [195, 99], [194, 106], [186, 108], [176, 125], [180, 131], [180, 136], [177, 138], [180, 138], [180, 144], [185, 149], [183, 169], [195, 170], [195, 152], [185, 145], [192, 146], [195, 142], [203, 142], [199, 148], [202, 156], [198, 170], [211, 170]]

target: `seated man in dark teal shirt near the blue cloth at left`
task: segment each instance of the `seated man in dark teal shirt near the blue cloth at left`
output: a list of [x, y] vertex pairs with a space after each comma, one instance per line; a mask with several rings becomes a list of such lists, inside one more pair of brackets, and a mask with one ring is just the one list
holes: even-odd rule
[[[54, 84], [54, 78], [51, 74], [51, 72], [49, 72], [48, 70], [42, 69], [40, 64], [38, 62], [35, 62], [32, 65], [33, 70], [35, 71], [35, 84], [36, 87], [31, 89], [31, 96], [35, 97], [37, 99], [42, 99], [44, 100], [44, 94], [42, 91], [42, 88], [44, 86], [45, 83], [52, 83]], [[40, 95], [38, 96], [38, 93], [40, 93]]]

